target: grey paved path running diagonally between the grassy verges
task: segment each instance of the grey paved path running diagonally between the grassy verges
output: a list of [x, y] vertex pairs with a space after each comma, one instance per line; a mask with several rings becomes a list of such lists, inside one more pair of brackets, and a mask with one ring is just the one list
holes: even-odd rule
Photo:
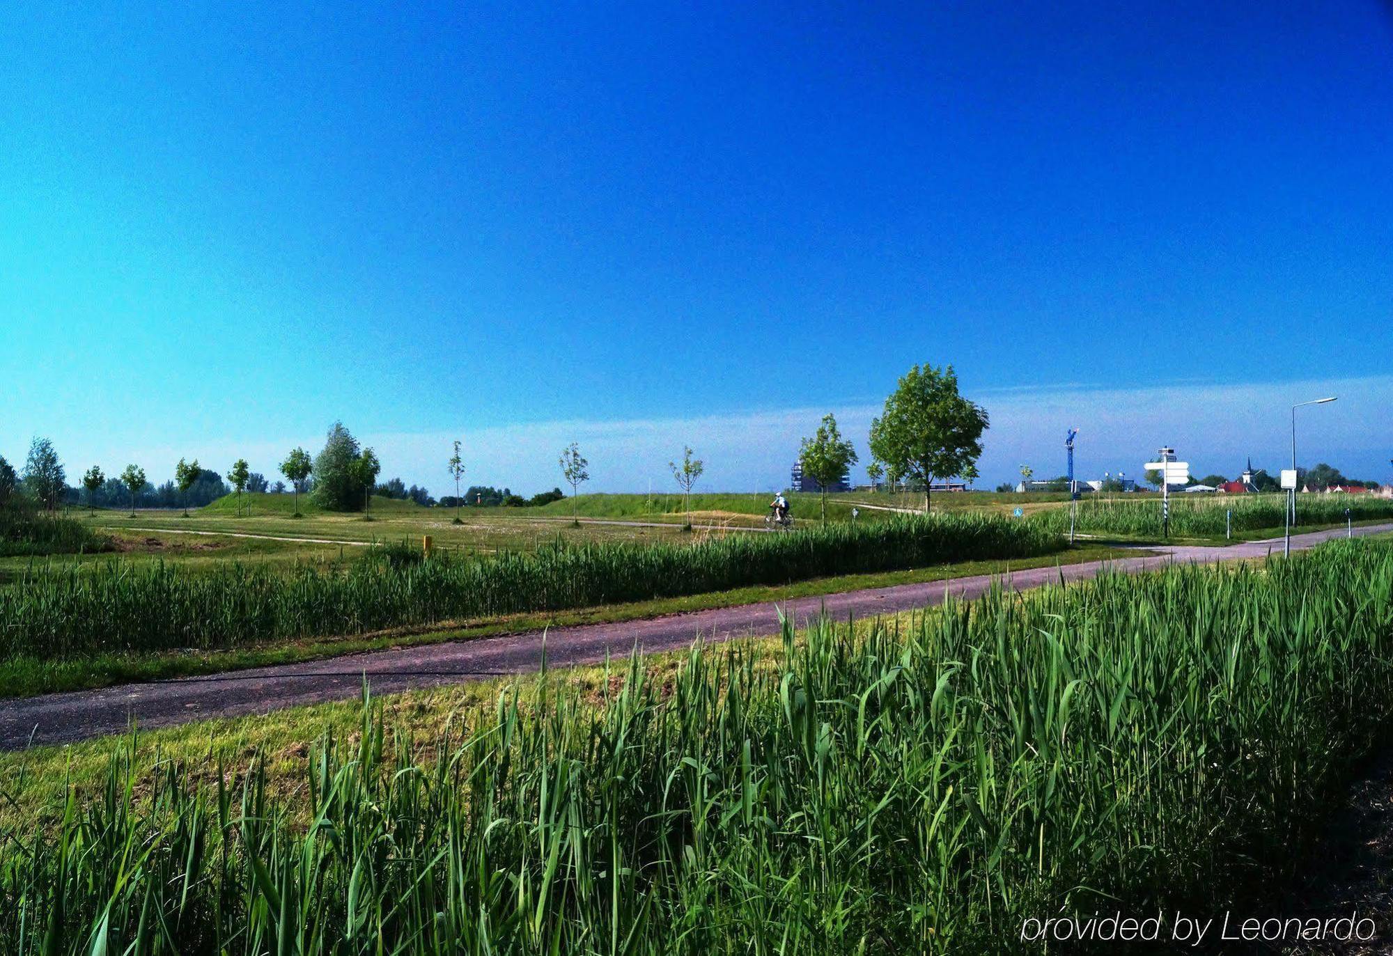
[[[1393, 524], [1354, 528], [1358, 537], [1393, 531]], [[1293, 537], [1294, 549], [1312, 548], [1344, 535], [1344, 530]], [[1151, 548], [1160, 556], [1123, 557], [1014, 571], [1010, 587], [1021, 591], [1095, 577], [1103, 567], [1135, 573], [1167, 562], [1212, 563], [1280, 553], [1282, 539], [1252, 541], [1224, 548], [1198, 545]], [[848, 591], [790, 601], [784, 612], [802, 624], [826, 609], [829, 615], [869, 617], [942, 603], [944, 595], [974, 598], [986, 591], [992, 576], [963, 577], [926, 584]], [[745, 634], [772, 634], [777, 629], [773, 605], [742, 605], [688, 615], [670, 615], [614, 624], [561, 627], [546, 635], [550, 666], [596, 663], [606, 655], [625, 656], [644, 651], [685, 648], [701, 634], [727, 640]], [[352, 654], [325, 661], [235, 670], [209, 677], [181, 677], [104, 690], [49, 694], [0, 701], [0, 750], [57, 744], [99, 734], [120, 733], [135, 718], [142, 727], [164, 727], [199, 718], [267, 714], [277, 708], [357, 697], [366, 674], [375, 693], [435, 687], [496, 674], [536, 670], [542, 655], [539, 631], [506, 637], [451, 641]]]

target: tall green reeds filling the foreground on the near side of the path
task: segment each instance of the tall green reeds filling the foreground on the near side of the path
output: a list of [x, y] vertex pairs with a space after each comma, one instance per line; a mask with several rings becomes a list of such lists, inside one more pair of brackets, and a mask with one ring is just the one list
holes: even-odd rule
[[369, 705], [212, 780], [116, 744], [0, 833], [0, 938], [978, 955], [1025, 916], [1259, 907], [1386, 740], [1390, 651], [1393, 548], [1341, 542], [543, 679], [429, 736]]

